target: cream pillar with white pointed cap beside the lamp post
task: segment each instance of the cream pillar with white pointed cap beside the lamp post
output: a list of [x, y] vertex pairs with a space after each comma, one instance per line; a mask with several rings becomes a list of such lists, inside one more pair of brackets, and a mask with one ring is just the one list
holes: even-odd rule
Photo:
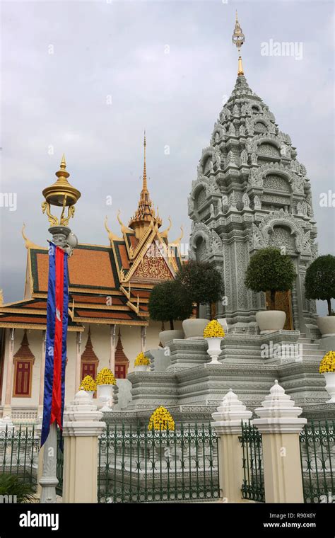
[[64, 503], [97, 503], [98, 436], [102, 413], [85, 391], [78, 391], [64, 413]]

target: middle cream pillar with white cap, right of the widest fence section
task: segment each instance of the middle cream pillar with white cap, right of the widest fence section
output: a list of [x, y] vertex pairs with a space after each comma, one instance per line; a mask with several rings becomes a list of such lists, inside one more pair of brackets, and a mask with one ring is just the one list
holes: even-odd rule
[[212, 415], [211, 425], [218, 435], [218, 469], [221, 498], [226, 503], [242, 503], [243, 452], [239, 436], [241, 422], [247, 422], [252, 412], [247, 411], [237, 395], [230, 391], [223, 396], [221, 406]]

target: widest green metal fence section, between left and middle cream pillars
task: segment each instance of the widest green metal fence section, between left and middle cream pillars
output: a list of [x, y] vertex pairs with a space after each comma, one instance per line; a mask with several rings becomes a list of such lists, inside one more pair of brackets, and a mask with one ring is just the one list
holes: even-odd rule
[[150, 503], [220, 496], [210, 425], [175, 431], [108, 427], [99, 439], [98, 502]]

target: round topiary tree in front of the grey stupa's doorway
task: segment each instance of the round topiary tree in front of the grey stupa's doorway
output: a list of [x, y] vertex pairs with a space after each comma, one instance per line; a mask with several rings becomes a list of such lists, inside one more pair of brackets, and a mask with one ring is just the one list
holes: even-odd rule
[[296, 273], [288, 254], [279, 248], [261, 248], [250, 258], [245, 275], [245, 285], [253, 292], [270, 291], [271, 310], [276, 310], [276, 292], [291, 289]]

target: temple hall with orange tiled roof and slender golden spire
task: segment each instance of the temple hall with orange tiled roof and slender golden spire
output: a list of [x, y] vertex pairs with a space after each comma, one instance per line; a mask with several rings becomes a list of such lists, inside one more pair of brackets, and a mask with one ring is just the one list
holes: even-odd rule
[[[175, 277], [182, 263], [182, 235], [169, 243], [171, 221], [160, 230], [162, 219], [148, 192], [145, 136], [143, 146], [143, 185], [129, 226], [118, 214], [121, 229], [114, 234], [106, 217], [109, 244], [78, 244], [69, 257], [66, 401], [74, 398], [86, 374], [95, 377], [97, 370], [110, 367], [115, 377], [125, 378], [136, 355], [160, 343], [162, 325], [149, 322], [148, 297], [155, 284]], [[64, 157], [56, 176], [53, 188], [69, 185]], [[45, 202], [42, 207], [53, 225]], [[27, 248], [24, 297], [4, 304], [2, 292], [0, 296], [1, 405], [4, 415], [20, 419], [42, 412], [49, 268], [47, 246], [30, 241], [25, 227], [22, 234]]]

